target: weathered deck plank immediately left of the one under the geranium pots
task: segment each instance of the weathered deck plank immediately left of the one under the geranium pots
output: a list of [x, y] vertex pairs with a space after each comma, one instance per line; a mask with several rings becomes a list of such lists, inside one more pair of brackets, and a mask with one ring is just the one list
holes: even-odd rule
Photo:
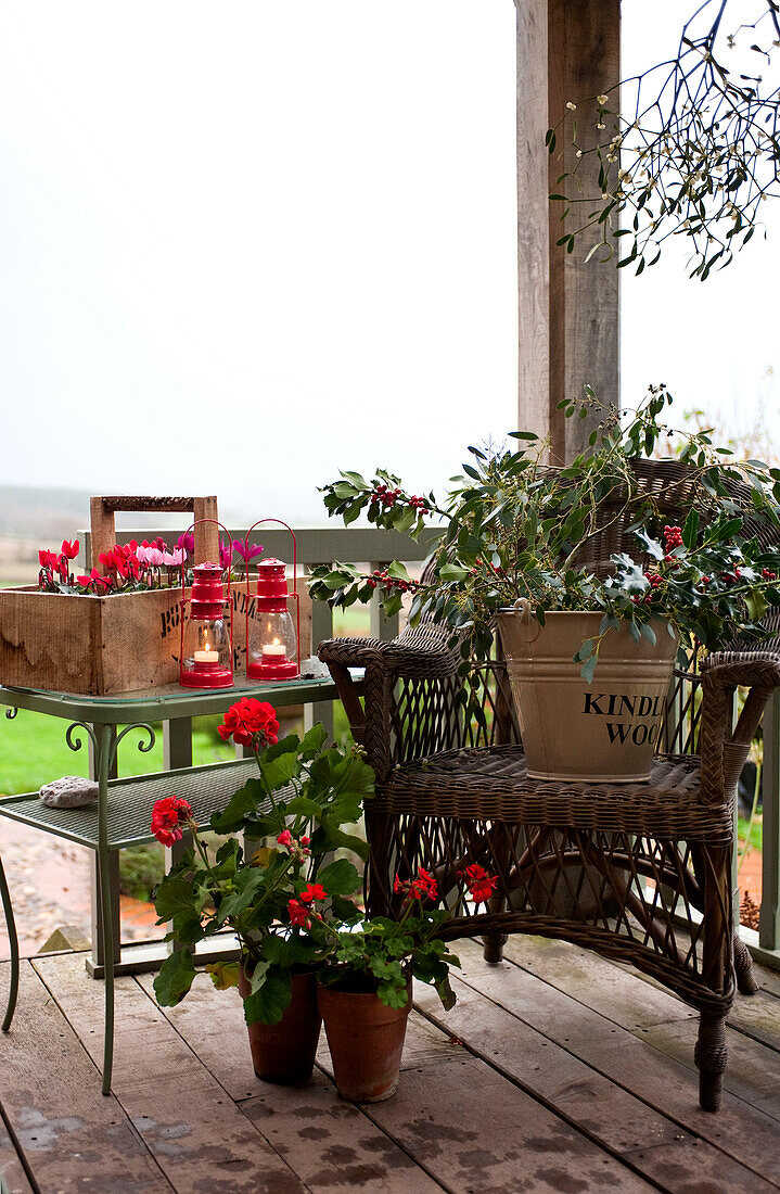
[[[103, 1057], [103, 984], [83, 956], [36, 959], [36, 967], [85, 1048]], [[242, 1115], [134, 978], [117, 981], [113, 1093], [178, 1192], [305, 1194], [305, 1186]], [[98, 1076], [94, 1076], [98, 1090]], [[128, 1194], [131, 1187], [124, 1187]]]

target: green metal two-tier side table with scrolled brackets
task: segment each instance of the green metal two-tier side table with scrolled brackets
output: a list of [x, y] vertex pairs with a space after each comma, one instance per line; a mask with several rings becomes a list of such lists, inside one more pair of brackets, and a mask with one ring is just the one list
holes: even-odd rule
[[[320, 713], [323, 702], [336, 700], [338, 693], [329, 678], [287, 681], [276, 685], [239, 679], [233, 688], [212, 690], [167, 685], [117, 696], [75, 696], [0, 687], [0, 704], [7, 706], [6, 718], [16, 718], [19, 709], [62, 718], [68, 722], [66, 730], [68, 746], [79, 750], [85, 740], [91, 746], [91, 770], [99, 788], [97, 805], [87, 808], [49, 808], [39, 800], [37, 793], [26, 793], [1, 796], [0, 816], [11, 817], [94, 851], [97, 916], [93, 916], [93, 956], [87, 962], [87, 970], [94, 978], [105, 978], [103, 1065], [105, 1095], [111, 1090], [114, 975], [129, 971], [153, 970], [160, 965], [166, 952], [166, 947], [157, 946], [155, 950], [147, 950], [146, 956], [141, 959], [136, 958], [135, 961], [126, 964], [123, 961], [116, 881], [117, 851], [129, 845], [154, 841], [149, 831], [151, 807], [162, 796], [184, 796], [192, 805], [199, 826], [205, 827], [211, 814], [224, 807], [233, 792], [255, 774], [253, 758], [208, 767], [191, 765], [192, 718], [222, 714], [241, 696], [270, 701], [279, 709], [291, 704], [314, 703], [315, 710]], [[328, 707], [329, 704], [326, 706]], [[166, 728], [165, 755], [168, 770], [126, 780], [113, 778], [119, 743], [126, 734], [138, 731], [141, 734], [138, 750], [142, 752], [151, 750], [155, 743], [153, 724], [159, 721], [162, 721]], [[188, 765], [177, 765], [181, 763]], [[113, 867], [112, 861], [116, 863]], [[11, 894], [1, 861], [0, 898], [11, 943], [11, 990], [2, 1022], [2, 1029], [7, 1032], [17, 1001], [19, 950]], [[205, 962], [209, 956], [198, 954], [198, 961]]]

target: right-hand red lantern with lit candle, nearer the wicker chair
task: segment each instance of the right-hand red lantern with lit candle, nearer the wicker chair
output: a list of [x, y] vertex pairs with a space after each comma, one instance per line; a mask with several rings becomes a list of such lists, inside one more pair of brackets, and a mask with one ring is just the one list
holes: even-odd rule
[[[279, 519], [265, 518], [262, 522], [279, 523]], [[249, 534], [259, 525], [261, 523], [255, 523], [247, 531], [247, 552]], [[262, 560], [258, 565], [258, 589], [254, 597], [255, 616], [250, 620], [252, 602], [247, 574], [247, 676], [266, 682], [297, 679], [301, 675], [298, 669], [299, 614], [297, 614], [298, 624], [296, 628], [289, 610], [289, 601], [292, 598], [296, 603], [296, 611], [298, 611], [296, 538], [286, 523], [279, 523], [279, 525], [285, 527], [292, 536], [293, 591], [290, 592], [287, 587], [284, 561]]]

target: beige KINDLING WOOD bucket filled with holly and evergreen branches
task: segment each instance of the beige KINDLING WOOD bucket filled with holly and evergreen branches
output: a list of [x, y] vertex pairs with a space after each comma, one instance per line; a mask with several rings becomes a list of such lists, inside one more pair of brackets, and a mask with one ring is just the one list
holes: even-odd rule
[[[372, 574], [334, 564], [314, 571], [312, 596], [351, 604], [380, 587], [390, 614], [411, 591], [410, 621], [451, 632], [464, 677], [494, 651], [497, 622], [528, 773], [646, 778], [675, 652], [687, 661], [697, 644], [761, 638], [780, 605], [780, 470], [675, 432], [670, 402], [661, 386], [638, 410], [601, 408], [565, 466], [528, 431], [510, 432], [513, 448], [470, 448], [442, 501], [384, 469], [342, 473], [324, 487], [330, 515], [411, 535], [433, 519], [439, 535], [422, 581], [398, 562]], [[600, 406], [588, 387], [561, 405], [572, 417]], [[652, 458], [675, 444], [676, 458]]]

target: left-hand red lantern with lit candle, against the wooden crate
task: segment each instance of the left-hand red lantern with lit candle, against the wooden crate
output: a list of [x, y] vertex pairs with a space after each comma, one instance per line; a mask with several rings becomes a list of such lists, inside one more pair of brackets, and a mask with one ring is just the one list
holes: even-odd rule
[[[211, 519], [202, 521], [210, 522]], [[192, 592], [190, 597], [185, 597], [186, 577], [182, 562], [179, 683], [184, 688], [231, 688], [233, 605], [230, 573], [228, 573], [225, 596], [222, 584], [222, 567], [218, 564], [196, 564], [192, 572]]]

